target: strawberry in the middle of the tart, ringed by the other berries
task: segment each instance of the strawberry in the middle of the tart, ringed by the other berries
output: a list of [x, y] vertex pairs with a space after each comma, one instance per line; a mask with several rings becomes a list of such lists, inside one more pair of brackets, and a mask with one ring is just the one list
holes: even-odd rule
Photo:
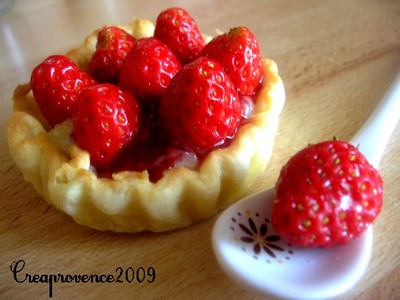
[[165, 93], [181, 65], [172, 51], [150, 37], [136, 42], [121, 70], [119, 86], [138, 98], [156, 98]]

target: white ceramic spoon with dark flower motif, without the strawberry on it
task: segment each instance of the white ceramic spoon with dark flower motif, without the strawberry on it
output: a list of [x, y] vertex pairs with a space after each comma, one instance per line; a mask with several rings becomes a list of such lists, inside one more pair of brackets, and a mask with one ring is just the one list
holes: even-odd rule
[[[375, 168], [399, 118], [400, 74], [351, 140]], [[329, 298], [354, 286], [371, 257], [372, 226], [344, 246], [296, 248], [281, 240], [270, 224], [273, 199], [274, 189], [269, 189], [219, 216], [212, 245], [223, 270], [247, 288], [289, 299]]]

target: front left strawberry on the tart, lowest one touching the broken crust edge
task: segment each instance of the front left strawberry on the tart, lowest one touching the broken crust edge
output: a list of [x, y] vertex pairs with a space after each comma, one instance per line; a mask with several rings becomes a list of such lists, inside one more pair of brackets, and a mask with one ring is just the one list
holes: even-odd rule
[[77, 145], [90, 154], [95, 168], [111, 168], [137, 137], [140, 109], [136, 98], [111, 84], [89, 87], [73, 111]]

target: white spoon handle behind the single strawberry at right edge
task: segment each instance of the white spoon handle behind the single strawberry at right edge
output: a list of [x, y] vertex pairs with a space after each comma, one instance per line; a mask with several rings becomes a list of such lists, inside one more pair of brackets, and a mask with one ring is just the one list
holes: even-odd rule
[[364, 123], [350, 143], [359, 146], [359, 150], [368, 161], [378, 168], [386, 144], [400, 118], [400, 73], [382, 98], [375, 111]]

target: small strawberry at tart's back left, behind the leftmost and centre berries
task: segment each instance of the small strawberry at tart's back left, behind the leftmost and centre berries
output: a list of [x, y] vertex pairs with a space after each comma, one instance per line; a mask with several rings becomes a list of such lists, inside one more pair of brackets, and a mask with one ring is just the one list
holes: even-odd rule
[[118, 83], [121, 67], [135, 42], [133, 36], [119, 27], [104, 27], [97, 35], [89, 74], [98, 82]]

